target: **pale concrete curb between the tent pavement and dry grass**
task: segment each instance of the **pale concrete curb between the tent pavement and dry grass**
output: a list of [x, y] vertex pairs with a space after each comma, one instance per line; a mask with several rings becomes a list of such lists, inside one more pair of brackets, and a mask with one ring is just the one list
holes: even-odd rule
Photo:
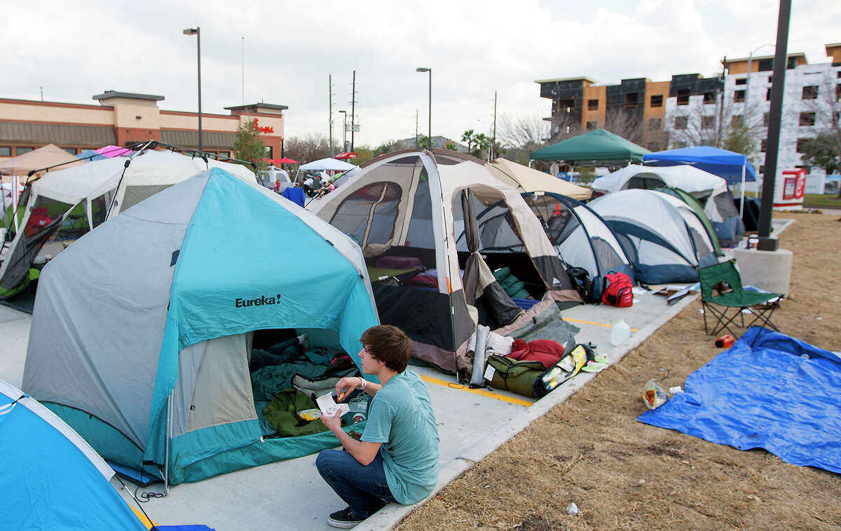
[[[605, 354], [606, 358], [610, 361], [610, 365], [613, 366], [619, 363], [621, 358], [625, 357], [625, 354], [631, 352], [634, 348], [637, 348], [643, 341], [656, 332], [659, 327], [662, 327], [666, 322], [671, 320], [672, 317], [678, 315], [680, 311], [690, 305], [693, 301], [697, 300], [700, 296], [700, 294], [687, 295], [683, 300], [680, 300], [680, 302], [672, 306], [669, 311], [665, 312], [662, 316], [659, 316], [658, 319], [651, 321], [639, 332], [632, 334], [631, 338], [628, 339], [627, 342], [622, 343], [618, 347], [612, 348]], [[526, 408], [522, 415], [513, 419], [502, 429], [489, 434], [487, 437], [481, 439], [479, 443], [473, 444], [470, 448], [464, 449], [462, 454], [460, 454], [457, 458], [442, 465], [442, 468], [438, 473], [438, 484], [435, 487], [435, 491], [432, 491], [432, 494], [423, 501], [417, 502], [414, 505], [389, 503], [389, 505], [383, 507], [383, 509], [378, 511], [371, 518], [368, 518], [357, 525], [356, 529], [359, 531], [385, 531], [386, 529], [394, 528], [394, 526], [406, 518], [410, 512], [428, 502], [431, 497], [435, 496], [445, 486], [456, 480], [459, 475], [462, 475], [467, 470], [473, 468], [473, 466], [481, 459], [484, 459], [484, 457], [493, 452], [495, 449], [500, 448], [500, 446], [510, 440], [510, 438], [513, 438], [517, 433], [526, 429], [529, 424], [543, 415], [546, 415], [546, 413], [554, 406], [566, 401], [570, 396], [573, 396], [576, 391], [583, 389], [584, 385], [587, 385], [590, 380], [593, 380], [598, 375], [599, 373], [579, 373], [574, 379], [569, 380], [569, 383], [553, 390], [547, 396], [544, 396], [542, 399], [532, 404], [532, 406]]]

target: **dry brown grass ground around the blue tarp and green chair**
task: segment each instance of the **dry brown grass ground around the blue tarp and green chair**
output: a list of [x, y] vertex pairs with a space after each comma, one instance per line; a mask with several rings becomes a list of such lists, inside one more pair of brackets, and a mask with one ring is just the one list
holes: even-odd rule
[[[838, 215], [786, 214], [794, 253], [782, 332], [841, 350]], [[482, 459], [398, 529], [838, 529], [841, 476], [788, 465], [635, 419], [648, 380], [664, 388], [721, 349], [687, 306], [619, 364]], [[575, 502], [578, 516], [566, 513]]]

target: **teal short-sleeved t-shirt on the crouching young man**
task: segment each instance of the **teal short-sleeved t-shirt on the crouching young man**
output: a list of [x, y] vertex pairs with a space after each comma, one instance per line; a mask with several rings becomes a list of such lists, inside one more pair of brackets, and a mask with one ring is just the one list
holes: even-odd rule
[[405, 505], [429, 496], [438, 482], [438, 426], [429, 390], [415, 372], [394, 375], [371, 399], [362, 440], [383, 443], [385, 479]]

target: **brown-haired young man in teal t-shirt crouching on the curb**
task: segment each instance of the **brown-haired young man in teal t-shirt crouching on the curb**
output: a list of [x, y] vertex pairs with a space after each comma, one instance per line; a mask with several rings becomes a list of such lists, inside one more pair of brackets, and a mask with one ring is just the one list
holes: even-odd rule
[[341, 430], [338, 415], [323, 416], [347, 452], [324, 450], [315, 459], [321, 477], [348, 505], [327, 519], [335, 528], [352, 528], [389, 502], [420, 502], [438, 481], [438, 427], [426, 385], [406, 370], [409, 337], [398, 327], [379, 325], [368, 328], [361, 341], [362, 373], [375, 374], [381, 383], [342, 378], [336, 394], [360, 389], [373, 397], [362, 440]]

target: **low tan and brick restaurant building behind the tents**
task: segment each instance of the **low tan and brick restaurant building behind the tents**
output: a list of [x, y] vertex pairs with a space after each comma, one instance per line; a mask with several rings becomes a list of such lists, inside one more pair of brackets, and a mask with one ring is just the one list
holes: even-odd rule
[[[113, 90], [93, 96], [98, 104], [0, 98], [0, 160], [50, 143], [74, 154], [147, 140], [197, 149], [198, 114], [159, 109], [163, 98]], [[267, 157], [283, 157], [286, 105], [259, 103], [225, 109], [230, 114], [202, 113], [204, 151], [230, 157], [236, 130], [257, 119]]]

